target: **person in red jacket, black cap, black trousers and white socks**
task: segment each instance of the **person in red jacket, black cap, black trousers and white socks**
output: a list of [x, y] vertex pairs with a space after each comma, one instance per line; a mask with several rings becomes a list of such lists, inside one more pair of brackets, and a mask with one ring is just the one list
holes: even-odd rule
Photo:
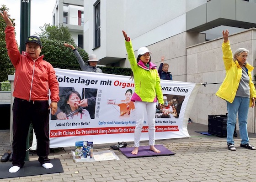
[[[50, 169], [53, 164], [48, 155], [49, 114], [57, 111], [59, 83], [53, 66], [40, 56], [42, 42], [37, 36], [29, 36], [25, 42], [26, 53], [21, 55], [15, 40], [15, 29], [6, 11], [0, 12], [5, 28], [5, 41], [11, 63], [15, 67], [15, 89], [13, 91], [13, 142], [12, 167], [9, 172], [16, 173], [24, 166], [26, 142], [29, 125], [37, 138], [37, 156], [40, 164]], [[51, 103], [49, 105], [49, 89]]]

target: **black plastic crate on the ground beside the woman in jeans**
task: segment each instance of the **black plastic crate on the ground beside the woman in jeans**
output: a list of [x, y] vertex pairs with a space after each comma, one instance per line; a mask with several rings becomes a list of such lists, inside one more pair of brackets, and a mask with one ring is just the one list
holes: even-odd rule
[[227, 136], [227, 115], [208, 115], [208, 133]]

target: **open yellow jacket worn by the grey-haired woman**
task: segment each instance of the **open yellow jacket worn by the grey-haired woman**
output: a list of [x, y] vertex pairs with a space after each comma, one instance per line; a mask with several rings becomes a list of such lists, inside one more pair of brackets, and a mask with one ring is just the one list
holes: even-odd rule
[[[236, 91], [238, 89], [241, 77], [242, 77], [242, 68], [240, 67], [238, 61], [233, 61], [233, 54], [230, 48], [229, 41], [223, 42], [222, 44], [223, 51], [223, 61], [226, 70], [226, 77], [219, 87], [219, 90], [216, 92], [216, 95], [220, 98], [233, 103], [236, 95]], [[250, 86], [250, 98], [256, 98], [256, 90], [255, 86], [251, 79], [251, 71], [254, 69], [253, 66], [246, 63], [245, 67], [248, 69], [248, 76], [250, 78], [249, 86]], [[252, 104], [252, 99], [250, 99], [250, 106]]]

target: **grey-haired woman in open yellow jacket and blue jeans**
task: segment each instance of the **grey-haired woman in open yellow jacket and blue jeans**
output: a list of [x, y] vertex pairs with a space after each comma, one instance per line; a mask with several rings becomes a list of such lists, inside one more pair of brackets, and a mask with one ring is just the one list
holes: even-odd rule
[[216, 95], [227, 102], [227, 145], [228, 149], [235, 151], [233, 134], [235, 131], [236, 116], [238, 114], [240, 147], [256, 150], [249, 143], [247, 131], [247, 118], [249, 107], [255, 107], [256, 90], [252, 82], [251, 71], [254, 69], [247, 62], [249, 51], [245, 48], [238, 48], [234, 56], [229, 44], [229, 31], [222, 32], [224, 42], [222, 43], [223, 61], [226, 76], [216, 92]]

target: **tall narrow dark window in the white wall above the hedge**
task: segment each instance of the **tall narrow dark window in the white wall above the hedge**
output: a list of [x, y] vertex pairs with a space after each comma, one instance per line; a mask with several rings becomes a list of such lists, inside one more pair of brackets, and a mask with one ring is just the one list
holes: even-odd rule
[[101, 3], [100, 1], [94, 5], [95, 19], [95, 48], [101, 46]]

